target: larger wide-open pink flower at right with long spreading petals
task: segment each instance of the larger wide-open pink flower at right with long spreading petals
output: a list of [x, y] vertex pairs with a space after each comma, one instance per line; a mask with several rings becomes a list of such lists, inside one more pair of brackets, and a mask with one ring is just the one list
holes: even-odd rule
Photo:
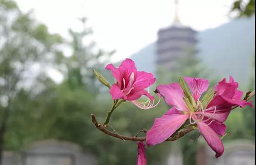
[[196, 107], [188, 107], [181, 86], [177, 83], [157, 86], [157, 91], [165, 99], [166, 103], [173, 106], [161, 118], [156, 118], [153, 127], [147, 132], [147, 145], [154, 146], [166, 141], [187, 120], [196, 124], [200, 134], [205, 138], [208, 145], [216, 152], [216, 158], [224, 153], [224, 146], [219, 135], [224, 135], [226, 126], [223, 123], [233, 106], [252, 106], [251, 103], [241, 100], [243, 92], [238, 91], [238, 83], [230, 77], [219, 82], [213, 92], [213, 98], [204, 107], [200, 100], [201, 95], [207, 91], [209, 82], [206, 79], [185, 78]]

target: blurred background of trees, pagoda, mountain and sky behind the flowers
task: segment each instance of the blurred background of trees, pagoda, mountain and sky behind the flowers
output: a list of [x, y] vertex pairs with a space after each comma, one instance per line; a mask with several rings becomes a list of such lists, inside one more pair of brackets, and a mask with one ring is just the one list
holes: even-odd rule
[[[157, 84], [231, 75], [253, 90], [255, 0], [0, 0], [0, 165], [134, 165], [137, 144], [90, 121], [112, 104], [92, 69], [114, 83], [104, 67], [127, 57]], [[134, 136], [168, 108], [126, 103], [109, 129]], [[220, 159], [194, 131], [147, 148], [148, 165], [254, 165], [255, 110], [225, 123]]]

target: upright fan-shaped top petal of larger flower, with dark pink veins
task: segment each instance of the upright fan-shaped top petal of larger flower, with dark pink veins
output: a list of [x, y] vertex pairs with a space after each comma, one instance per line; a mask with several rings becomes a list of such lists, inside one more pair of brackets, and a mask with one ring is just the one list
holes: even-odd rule
[[190, 87], [192, 95], [196, 101], [198, 101], [201, 95], [206, 92], [209, 87], [209, 81], [207, 79], [190, 77], [184, 77], [184, 79]]

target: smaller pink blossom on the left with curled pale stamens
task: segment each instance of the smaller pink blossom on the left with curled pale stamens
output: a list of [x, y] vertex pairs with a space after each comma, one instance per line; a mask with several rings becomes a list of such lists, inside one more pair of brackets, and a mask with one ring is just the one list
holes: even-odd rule
[[[131, 59], [124, 60], [118, 68], [114, 67], [113, 64], [109, 64], [106, 69], [112, 71], [117, 81], [110, 89], [113, 100], [128, 100], [141, 109], [150, 109], [156, 106], [154, 105], [154, 97], [145, 90], [155, 83], [156, 79], [152, 73], [137, 71], [134, 61]], [[147, 102], [136, 101], [142, 95], [149, 98]]]

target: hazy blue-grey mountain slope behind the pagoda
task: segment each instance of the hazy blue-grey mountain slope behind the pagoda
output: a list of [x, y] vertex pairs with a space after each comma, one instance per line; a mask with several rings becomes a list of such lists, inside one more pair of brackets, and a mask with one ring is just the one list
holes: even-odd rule
[[[255, 55], [255, 17], [241, 18], [198, 33], [198, 56], [213, 74], [234, 76], [248, 82], [252, 56]], [[139, 70], [155, 73], [156, 44], [151, 43], [131, 58]]]

